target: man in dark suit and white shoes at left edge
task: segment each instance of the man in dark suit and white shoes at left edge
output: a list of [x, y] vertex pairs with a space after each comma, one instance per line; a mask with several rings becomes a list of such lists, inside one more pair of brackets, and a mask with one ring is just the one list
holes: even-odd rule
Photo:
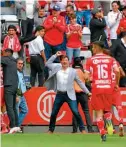
[[10, 120], [10, 134], [17, 131], [18, 116], [16, 110], [16, 93], [18, 88], [18, 75], [16, 60], [12, 57], [13, 50], [6, 49], [1, 57], [3, 67], [4, 98], [7, 114]]

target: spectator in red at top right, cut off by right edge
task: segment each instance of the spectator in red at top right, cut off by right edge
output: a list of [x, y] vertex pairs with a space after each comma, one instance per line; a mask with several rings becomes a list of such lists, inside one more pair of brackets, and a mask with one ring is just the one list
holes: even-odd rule
[[122, 12], [123, 12], [123, 18], [120, 20], [120, 23], [117, 29], [118, 35], [126, 31], [126, 6], [123, 7]]

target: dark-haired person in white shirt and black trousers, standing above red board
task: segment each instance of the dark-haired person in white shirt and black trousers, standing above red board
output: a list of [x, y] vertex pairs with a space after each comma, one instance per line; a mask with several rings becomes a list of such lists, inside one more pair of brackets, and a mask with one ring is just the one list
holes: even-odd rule
[[38, 74], [39, 87], [43, 86], [44, 83], [44, 65], [46, 62], [46, 57], [44, 53], [45, 48], [42, 39], [44, 34], [45, 34], [45, 28], [43, 26], [38, 26], [35, 30], [35, 35], [37, 37], [31, 42], [29, 42], [31, 86], [35, 86], [35, 80], [37, 74]]

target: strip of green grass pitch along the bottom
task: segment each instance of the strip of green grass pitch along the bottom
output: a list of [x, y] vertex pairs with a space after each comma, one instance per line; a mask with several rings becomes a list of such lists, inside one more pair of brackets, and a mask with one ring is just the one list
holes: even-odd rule
[[5, 134], [1, 147], [126, 147], [126, 136], [101, 142], [99, 134]]

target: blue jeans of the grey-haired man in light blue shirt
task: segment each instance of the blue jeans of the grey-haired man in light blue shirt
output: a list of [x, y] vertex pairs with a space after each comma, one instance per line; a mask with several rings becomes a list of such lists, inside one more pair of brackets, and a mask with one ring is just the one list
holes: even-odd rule
[[16, 109], [18, 112], [18, 126], [20, 127], [26, 114], [28, 113], [28, 106], [24, 96], [20, 97], [20, 100], [16, 105]]

